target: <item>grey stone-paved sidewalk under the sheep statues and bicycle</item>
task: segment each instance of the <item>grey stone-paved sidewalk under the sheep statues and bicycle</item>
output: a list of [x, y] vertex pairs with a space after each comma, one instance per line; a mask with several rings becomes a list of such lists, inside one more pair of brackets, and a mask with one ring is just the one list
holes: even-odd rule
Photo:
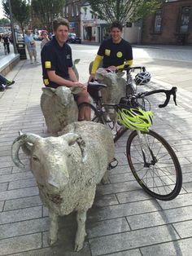
[[[86, 59], [85, 59], [86, 60]], [[85, 60], [78, 70], [88, 70]], [[192, 254], [192, 92], [181, 88], [178, 106], [157, 109], [153, 98], [155, 125], [177, 152], [183, 172], [183, 188], [177, 199], [156, 201], [139, 187], [131, 174], [124, 135], [116, 143], [120, 165], [109, 173], [107, 185], [98, 186], [94, 206], [88, 213], [85, 247], [74, 253], [76, 219], [70, 214], [59, 219], [59, 241], [47, 245], [48, 212], [42, 206], [31, 171], [19, 170], [11, 161], [11, 143], [18, 130], [46, 136], [40, 108], [41, 65], [20, 61], [8, 74], [15, 85], [0, 92], [0, 255], [113, 255], [161, 256]], [[166, 82], [161, 87], [170, 88]], [[151, 82], [150, 89], [159, 86]], [[148, 89], [147, 89], [148, 90]], [[28, 158], [21, 153], [22, 161]]]

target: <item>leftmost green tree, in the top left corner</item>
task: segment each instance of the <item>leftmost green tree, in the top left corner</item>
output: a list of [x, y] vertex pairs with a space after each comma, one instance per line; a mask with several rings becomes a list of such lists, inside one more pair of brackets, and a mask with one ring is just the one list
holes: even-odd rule
[[[10, 19], [9, 2], [2, 0], [2, 8], [5, 16]], [[11, 0], [11, 11], [13, 19], [20, 24], [24, 34], [24, 26], [28, 24], [30, 18], [30, 6], [26, 0]]]

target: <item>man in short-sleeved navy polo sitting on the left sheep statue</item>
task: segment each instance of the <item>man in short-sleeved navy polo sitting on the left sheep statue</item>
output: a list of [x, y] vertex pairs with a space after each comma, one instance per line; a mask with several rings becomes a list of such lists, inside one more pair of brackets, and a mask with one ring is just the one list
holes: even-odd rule
[[[89, 93], [86, 87], [77, 81], [72, 70], [72, 49], [66, 43], [68, 39], [68, 20], [59, 17], [53, 21], [55, 36], [47, 42], [41, 50], [41, 65], [43, 82], [47, 87], [58, 86], [81, 87], [81, 92], [76, 97], [77, 104], [89, 102]], [[90, 120], [89, 108], [82, 109], [79, 120]]]

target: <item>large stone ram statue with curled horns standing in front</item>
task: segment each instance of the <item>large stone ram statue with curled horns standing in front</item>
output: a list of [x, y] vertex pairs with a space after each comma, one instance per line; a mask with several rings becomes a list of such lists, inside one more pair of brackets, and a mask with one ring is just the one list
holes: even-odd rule
[[24, 168], [20, 147], [30, 156], [41, 201], [49, 210], [50, 245], [57, 241], [58, 216], [77, 212], [75, 251], [79, 251], [86, 236], [86, 213], [94, 202], [96, 184], [106, 180], [107, 166], [114, 158], [114, 143], [107, 126], [91, 121], [73, 122], [62, 134], [48, 138], [20, 135], [12, 144], [12, 160]]

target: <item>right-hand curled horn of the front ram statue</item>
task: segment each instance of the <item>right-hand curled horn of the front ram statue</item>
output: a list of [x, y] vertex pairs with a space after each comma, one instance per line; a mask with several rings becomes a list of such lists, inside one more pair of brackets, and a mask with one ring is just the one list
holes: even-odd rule
[[81, 135], [77, 135], [76, 133], [68, 133], [67, 135], [62, 136], [65, 139], [69, 146], [74, 143], [77, 143], [81, 149], [82, 162], [85, 162], [87, 158], [87, 152], [85, 150], [85, 140], [81, 138]]

